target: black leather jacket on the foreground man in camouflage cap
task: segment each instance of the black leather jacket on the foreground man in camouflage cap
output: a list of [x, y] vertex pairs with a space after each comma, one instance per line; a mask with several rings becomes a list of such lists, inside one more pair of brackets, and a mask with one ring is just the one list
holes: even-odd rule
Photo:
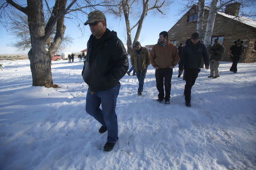
[[82, 78], [90, 89], [97, 92], [113, 88], [128, 68], [127, 53], [116, 32], [107, 29], [100, 39], [90, 36], [82, 69]]

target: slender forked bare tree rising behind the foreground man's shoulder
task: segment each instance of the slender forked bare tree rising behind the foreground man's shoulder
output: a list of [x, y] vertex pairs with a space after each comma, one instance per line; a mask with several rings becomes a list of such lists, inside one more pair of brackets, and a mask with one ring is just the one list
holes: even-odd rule
[[[128, 48], [128, 53], [131, 52], [131, 45], [135, 42], [138, 41], [139, 35], [141, 34], [142, 26], [143, 26], [143, 21], [146, 18], [146, 15], [148, 14], [149, 11], [151, 10], [156, 10], [160, 14], [164, 14], [162, 9], [164, 7], [170, 6], [172, 3], [171, 0], [122, 0], [118, 7], [111, 8], [110, 11], [121, 17], [122, 14], [125, 18], [125, 24], [126, 24], [126, 36], [127, 36], [127, 48]], [[135, 15], [138, 14], [138, 17], [135, 17]], [[134, 26], [131, 26], [131, 19], [130, 15], [133, 15], [133, 18], [136, 18]], [[133, 43], [132, 43], [132, 30], [134, 28], [137, 28]]]

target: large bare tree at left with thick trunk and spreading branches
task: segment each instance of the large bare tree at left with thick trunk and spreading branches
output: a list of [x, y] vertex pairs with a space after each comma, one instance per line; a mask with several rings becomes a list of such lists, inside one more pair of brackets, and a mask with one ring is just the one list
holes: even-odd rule
[[[84, 9], [87, 7], [105, 5], [104, 1], [92, 4], [91, 1], [85, 0], [84, 5], [81, 6], [76, 1], [72, 0], [67, 4], [67, 0], [56, 0], [52, 9], [49, 8], [47, 0], [44, 0], [44, 2], [43, 0], [27, 0], [26, 5], [19, 5], [12, 0], [6, 0], [0, 3], [1, 16], [9, 8], [19, 10], [27, 16], [27, 26], [30, 32], [31, 43], [28, 59], [30, 60], [33, 86], [53, 86], [51, 56], [60, 47], [64, 38], [65, 15], [73, 11], [85, 13]], [[46, 5], [46, 9], [51, 13], [47, 22], [45, 22], [44, 5]], [[74, 9], [71, 9], [71, 7], [74, 7]], [[56, 31], [54, 31], [55, 27]], [[52, 34], [54, 38], [51, 44], [49, 44], [47, 51], [47, 42], [49, 42], [49, 37]]]

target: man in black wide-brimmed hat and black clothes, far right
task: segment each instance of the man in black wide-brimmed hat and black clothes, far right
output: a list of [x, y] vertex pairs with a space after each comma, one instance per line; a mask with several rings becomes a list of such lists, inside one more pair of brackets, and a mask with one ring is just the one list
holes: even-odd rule
[[232, 59], [232, 66], [229, 69], [230, 72], [237, 73], [237, 63], [243, 55], [243, 52], [245, 52], [245, 48], [243, 47], [242, 43], [243, 41], [238, 39], [237, 41], [234, 41], [235, 45], [232, 45], [232, 47], [229, 48], [229, 54]]

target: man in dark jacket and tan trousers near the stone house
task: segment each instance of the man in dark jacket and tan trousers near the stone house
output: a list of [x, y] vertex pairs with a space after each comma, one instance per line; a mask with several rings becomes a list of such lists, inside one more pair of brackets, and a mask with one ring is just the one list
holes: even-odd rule
[[[210, 47], [210, 76], [208, 78], [220, 77], [218, 73], [218, 66], [222, 60], [222, 55], [224, 53], [224, 47], [220, 44], [218, 39], [214, 40], [214, 44]], [[215, 73], [215, 76], [214, 76]]]

